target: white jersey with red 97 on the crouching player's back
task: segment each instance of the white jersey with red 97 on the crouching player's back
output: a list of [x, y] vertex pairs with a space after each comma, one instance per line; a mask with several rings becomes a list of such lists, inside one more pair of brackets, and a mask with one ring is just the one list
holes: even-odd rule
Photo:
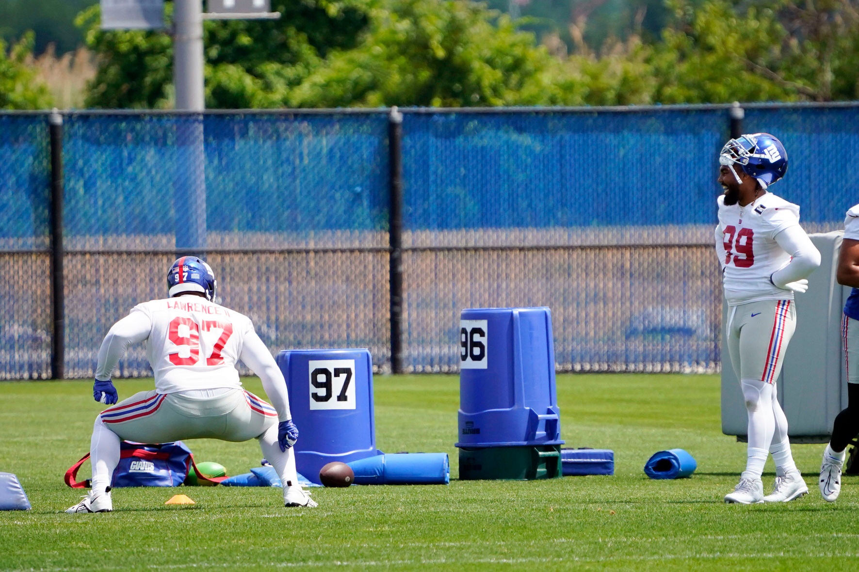
[[146, 354], [157, 392], [241, 387], [235, 364], [253, 332], [247, 316], [195, 295], [143, 302], [130, 317], [137, 312], [152, 324]]

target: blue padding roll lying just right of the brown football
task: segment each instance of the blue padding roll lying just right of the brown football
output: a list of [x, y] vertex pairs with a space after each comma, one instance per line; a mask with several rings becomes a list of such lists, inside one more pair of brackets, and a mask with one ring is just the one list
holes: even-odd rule
[[448, 453], [393, 453], [348, 463], [355, 484], [448, 484]]

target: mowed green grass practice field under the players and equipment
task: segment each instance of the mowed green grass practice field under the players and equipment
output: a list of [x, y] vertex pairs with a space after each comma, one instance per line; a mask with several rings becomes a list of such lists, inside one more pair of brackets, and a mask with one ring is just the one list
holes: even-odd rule
[[[120, 399], [151, 380], [120, 381]], [[258, 380], [248, 388], [261, 393]], [[0, 471], [33, 510], [0, 513], [0, 569], [852, 569], [859, 478], [834, 504], [816, 485], [821, 445], [795, 445], [811, 494], [783, 505], [725, 505], [746, 446], [722, 435], [710, 375], [559, 375], [567, 447], [615, 451], [613, 477], [452, 481], [449, 486], [314, 489], [316, 509], [283, 508], [280, 490], [123, 489], [112, 514], [64, 514], [63, 484], [86, 452], [91, 385], [0, 383]], [[446, 451], [457, 475], [456, 376], [377, 376], [376, 434], [387, 451]], [[188, 441], [229, 474], [258, 466], [255, 441]], [[683, 447], [691, 479], [651, 481], [651, 453]], [[773, 467], [767, 466], [771, 488]], [[88, 465], [83, 467], [88, 475]], [[166, 507], [184, 492], [197, 504]]]

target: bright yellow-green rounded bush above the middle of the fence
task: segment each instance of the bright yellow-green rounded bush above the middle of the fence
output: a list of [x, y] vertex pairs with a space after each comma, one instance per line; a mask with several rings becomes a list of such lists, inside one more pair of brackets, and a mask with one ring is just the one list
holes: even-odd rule
[[478, 3], [393, 0], [375, 8], [356, 48], [295, 89], [295, 106], [557, 104], [574, 90], [556, 58]]

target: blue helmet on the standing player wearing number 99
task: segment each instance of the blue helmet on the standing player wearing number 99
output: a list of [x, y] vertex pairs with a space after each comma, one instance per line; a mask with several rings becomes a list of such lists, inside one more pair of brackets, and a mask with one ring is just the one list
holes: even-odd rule
[[788, 152], [782, 142], [769, 133], [754, 133], [725, 143], [719, 153], [719, 164], [731, 167], [737, 183], [742, 181], [733, 166], [740, 165], [766, 189], [788, 172]]

